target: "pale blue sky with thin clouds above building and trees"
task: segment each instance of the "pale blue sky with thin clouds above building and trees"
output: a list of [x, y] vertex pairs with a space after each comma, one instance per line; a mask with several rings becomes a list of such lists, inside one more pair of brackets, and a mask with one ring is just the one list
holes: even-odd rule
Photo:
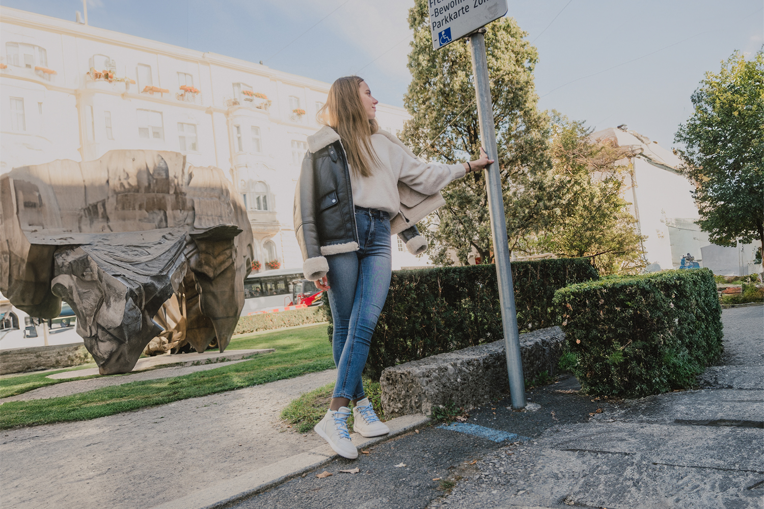
[[[358, 74], [403, 106], [413, 0], [87, 0], [89, 24], [332, 82]], [[508, 0], [539, 50], [539, 108], [674, 146], [707, 71], [764, 43], [764, 0]], [[82, 0], [0, 0], [70, 21]]]

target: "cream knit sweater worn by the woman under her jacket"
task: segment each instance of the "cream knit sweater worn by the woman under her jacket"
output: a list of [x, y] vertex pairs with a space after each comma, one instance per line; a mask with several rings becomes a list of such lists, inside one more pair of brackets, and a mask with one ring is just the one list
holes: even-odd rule
[[353, 202], [359, 207], [386, 211], [393, 218], [400, 209], [398, 181], [423, 195], [433, 195], [448, 182], [465, 176], [461, 164], [423, 163], [415, 159], [384, 134], [372, 134], [371, 146], [379, 163], [372, 163], [371, 177], [356, 176], [350, 171]]

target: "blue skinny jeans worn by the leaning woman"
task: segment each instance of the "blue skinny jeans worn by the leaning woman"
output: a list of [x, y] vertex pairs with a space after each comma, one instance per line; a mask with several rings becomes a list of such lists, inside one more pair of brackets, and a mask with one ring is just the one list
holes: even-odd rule
[[337, 366], [334, 398], [364, 398], [361, 372], [371, 335], [390, 289], [390, 216], [374, 208], [355, 208], [360, 248], [326, 256], [329, 304], [332, 306], [332, 351]]

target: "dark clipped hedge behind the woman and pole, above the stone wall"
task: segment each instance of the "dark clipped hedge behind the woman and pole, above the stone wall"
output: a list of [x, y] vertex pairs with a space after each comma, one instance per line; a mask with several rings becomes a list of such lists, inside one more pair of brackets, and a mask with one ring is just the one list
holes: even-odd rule
[[[585, 258], [516, 262], [512, 275], [521, 331], [559, 324], [558, 309], [552, 305], [555, 290], [598, 277]], [[328, 298], [325, 308], [330, 315]], [[496, 266], [397, 270], [364, 373], [379, 380], [388, 366], [502, 337]]]

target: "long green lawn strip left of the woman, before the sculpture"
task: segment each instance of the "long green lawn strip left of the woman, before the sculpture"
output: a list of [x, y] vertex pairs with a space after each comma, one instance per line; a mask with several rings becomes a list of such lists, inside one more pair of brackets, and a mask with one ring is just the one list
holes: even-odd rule
[[[276, 351], [257, 355], [231, 366], [189, 375], [128, 382], [60, 398], [8, 401], [0, 407], [2, 409], [0, 429], [95, 419], [334, 368], [332, 346], [326, 338], [325, 324], [270, 333], [254, 333], [231, 340], [227, 350], [255, 348], [275, 348]], [[37, 382], [44, 383], [37, 378], [45, 379], [45, 375], [50, 375], [50, 372], [9, 377], [0, 380], [0, 387], [10, 392], [18, 386], [18, 390], [25, 388], [20, 390], [24, 392], [30, 390], [28, 387]], [[45, 380], [53, 383], [61, 382]], [[44, 385], [48, 384], [44, 383]]]

